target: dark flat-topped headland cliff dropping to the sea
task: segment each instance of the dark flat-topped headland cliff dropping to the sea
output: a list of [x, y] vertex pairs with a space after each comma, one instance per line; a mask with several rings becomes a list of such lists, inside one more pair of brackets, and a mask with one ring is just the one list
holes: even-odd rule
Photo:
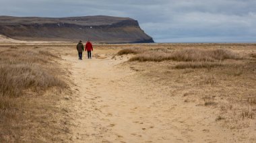
[[15, 40], [92, 40], [105, 43], [154, 42], [139, 23], [126, 17], [0, 16], [0, 34]]

